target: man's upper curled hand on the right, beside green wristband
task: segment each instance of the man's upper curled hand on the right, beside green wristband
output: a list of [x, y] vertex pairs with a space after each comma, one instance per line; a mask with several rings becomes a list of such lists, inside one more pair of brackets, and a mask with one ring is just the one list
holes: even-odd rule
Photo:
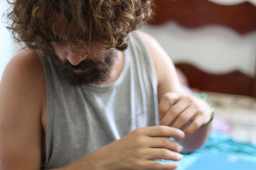
[[[177, 129], [184, 128], [189, 135], [211, 118], [211, 108], [198, 97], [189, 94], [168, 92], [159, 103], [160, 125], [170, 125]], [[186, 126], [185, 126], [186, 125]]]

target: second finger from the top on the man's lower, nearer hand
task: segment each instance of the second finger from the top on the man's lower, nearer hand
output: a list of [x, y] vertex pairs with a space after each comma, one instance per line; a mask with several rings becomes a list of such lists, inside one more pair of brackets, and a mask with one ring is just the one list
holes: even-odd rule
[[172, 141], [169, 138], [149, 138], [148, 146], [151, 148], [166, 148], [174, 152], [181, 152], [183, 147], [176, 141]]

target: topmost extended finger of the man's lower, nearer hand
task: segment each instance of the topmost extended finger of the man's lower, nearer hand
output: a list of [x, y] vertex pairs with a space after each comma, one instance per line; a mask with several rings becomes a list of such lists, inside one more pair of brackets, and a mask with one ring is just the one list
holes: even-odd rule
[[185, 137], [185, 134], [180, 129], [174, 127], [168, 127], [164, 125], [151, 126], [151, 127], [141, 127], [134, 131], [140, 135], [147, 135], [151, 137], [166, 137], [166, 138], [177, 138], [182, 139]]

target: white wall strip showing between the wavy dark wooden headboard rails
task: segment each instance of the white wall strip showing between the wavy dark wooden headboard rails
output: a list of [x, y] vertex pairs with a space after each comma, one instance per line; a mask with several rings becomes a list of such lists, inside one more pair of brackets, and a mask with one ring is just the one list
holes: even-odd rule
[[255, 74], [256, 31], [241, 35], [220, 25], [186, 29], [175, 22], [142, 30], [159, 41], [173, 62], [190, 62], [211, 73], [239, 69]]

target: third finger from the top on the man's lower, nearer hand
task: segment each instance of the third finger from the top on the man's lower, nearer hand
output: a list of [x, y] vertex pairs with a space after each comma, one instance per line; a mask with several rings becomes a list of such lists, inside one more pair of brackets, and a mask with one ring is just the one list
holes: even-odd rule
[[155, 159], [166, 159], [179, 161], [182, 159], [183, 155], [178, 152], [173, 152], [165, 148], [148, 148], [147, 155], [145, 159], [155, 160]]

